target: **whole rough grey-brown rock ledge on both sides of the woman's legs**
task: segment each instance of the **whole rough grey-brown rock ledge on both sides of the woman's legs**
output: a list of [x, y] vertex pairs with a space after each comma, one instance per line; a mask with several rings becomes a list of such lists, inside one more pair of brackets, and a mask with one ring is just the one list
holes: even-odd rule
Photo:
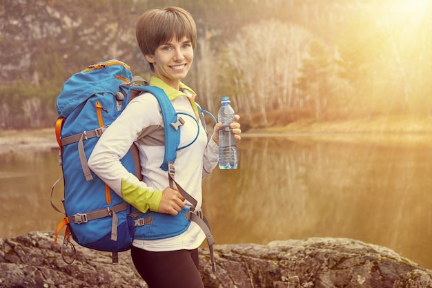
[[[128, 252], [112, 264], [110, 253], [75, 244], [72, 265], [61, 258], [54, 233], [0, 239], [0, 287], [147, 287]], [[309, 238], [259, 244], [215, 245], [199, 251], [205, 287], [432, 287], [432, 271], [373, 244], [345, 238]]]

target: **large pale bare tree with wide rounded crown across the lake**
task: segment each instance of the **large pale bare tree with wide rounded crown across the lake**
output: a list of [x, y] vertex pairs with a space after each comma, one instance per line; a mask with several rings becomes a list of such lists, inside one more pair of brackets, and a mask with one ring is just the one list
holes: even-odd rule
[[237, 107], [259, 113], [267, 125], [266, 111], [297, 106], [292, 86], [312, 39], [310, 32], [281, 21], [244, 27], [227, 45], [222, 61], [222, 79], [230, 84]]

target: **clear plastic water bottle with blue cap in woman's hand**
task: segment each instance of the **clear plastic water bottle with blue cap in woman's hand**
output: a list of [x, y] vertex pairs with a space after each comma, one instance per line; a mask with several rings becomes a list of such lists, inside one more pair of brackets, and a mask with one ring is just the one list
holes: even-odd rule
[[218, 121], [222, 122], [219, 130], [219, 169], [237, 169], [237, 140], [230, 128], [235, 112], [230, 103], [230, 97], [222, 97], [222, 106], [217, 113]]

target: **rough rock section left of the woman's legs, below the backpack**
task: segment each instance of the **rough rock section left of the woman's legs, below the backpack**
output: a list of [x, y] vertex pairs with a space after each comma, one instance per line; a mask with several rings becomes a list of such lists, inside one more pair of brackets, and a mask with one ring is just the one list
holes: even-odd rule
[[112, 264], [110, 253], [75, 248], [77, 260], [68, 265], [53, 232], [0, 239], [0, 287], [147, 287], [128, 252], [119, 253], [119, 263]]

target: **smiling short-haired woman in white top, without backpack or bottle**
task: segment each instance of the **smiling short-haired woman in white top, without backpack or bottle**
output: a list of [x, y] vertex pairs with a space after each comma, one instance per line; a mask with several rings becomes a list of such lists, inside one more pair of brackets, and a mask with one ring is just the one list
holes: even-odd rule
[[[181, 82], [193, 63], [197, 37], [195, 21], [181, 8], [148, 10], [137, 21], [136, 36], [139, 48], [154, 72], [150, 85], [162, 88], [177, 113], [186, 115], [182, 117], [184, 124], [180, 126], [179, 146], [187, 147], [177, 151], [175, 180], [197, 200], [195, 208], [200, 209], [202, 179], [217, 164], [218, 132], [222, 125], [215, 125], [208, 141], [199, 120], [195, 93]], [[242, 131], [238, 119], [239, 115], [236, 115], [231, 128], [235, 138], [240, 140]], [[112, 190], [142, 213], [164, 213], [174, 219], [184, 217], [182, 213], [191, 207], [191, 203], [177, 187], [169, 187], [167, 172], [160, 168], [164, 144], [152, 146], [138, 140], [142, 131], [161, 127], [163, 123], [153, 95], [145, 93], [132, 99], [101, 136], [88, 164]], [[142, 182], [119, 162], [134, 142], [139, 149]], [[160, 235], [149, 239], [144, 234], [135, 233], [131, 253], [137, 271], [150, 288], [204, 287], [198, 269], [198, 247], [206, 236], [195, 222], [190, 222], [186, 230], [175, 236]]]

